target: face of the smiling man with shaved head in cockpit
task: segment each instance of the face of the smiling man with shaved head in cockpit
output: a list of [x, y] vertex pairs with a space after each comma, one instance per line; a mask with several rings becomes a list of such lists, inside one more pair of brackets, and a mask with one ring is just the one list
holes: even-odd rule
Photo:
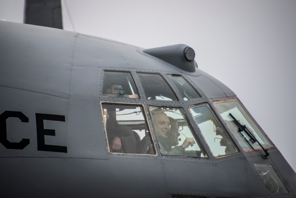
[[161, 112], [153, 115], [153, 125], [157, 136], [168, 137], [168, 132], [170, 132], [170, 119], [165, 113]]

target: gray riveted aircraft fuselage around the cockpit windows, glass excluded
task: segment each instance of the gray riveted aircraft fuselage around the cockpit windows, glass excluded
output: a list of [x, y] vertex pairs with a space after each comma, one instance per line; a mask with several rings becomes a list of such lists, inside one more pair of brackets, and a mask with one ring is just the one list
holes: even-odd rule
[[[295, 197], [296, 174], [280, 151], [268, 148], [267, 159], [262, 149], [243, 151], [219, 116], [238, 152], [213, 156], [189, 107], [216, 113], [213, 101], [237, 96], [196, 64], [186, 71], [170, 55], [28, 24], [0, 21], [0, 36], [1, 197]], [[102, 96], [106, 70], [130, 72], [140, 98]], [[137, 72], [164, 76], [178, 101], [146, 99]], [[168, 73], [201, 97], [184, 101]], [[102, 102], [142, 105], [152, 137], [150, 106], [183, 109], [207, 157], [163, 155], [157, 138], [154, 155], [110, 152]], [[288, 193], [268, 193], [254, 163], [271, 164]]]

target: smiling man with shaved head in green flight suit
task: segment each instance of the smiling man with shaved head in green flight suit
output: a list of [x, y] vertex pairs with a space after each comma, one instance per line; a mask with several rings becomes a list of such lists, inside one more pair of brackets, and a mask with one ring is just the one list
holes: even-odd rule
[[175, 119], [169, 118], [165, 113], [158, 112], [152, 115], [152, 122], [160, 144], [161, 153], [184, 156], [185, 148], [188, 148], [189, 145], [193, 146], [195, 144], [193, 138], [186, 137], [183, 144], [181, 146], [177, 146], [179, 144], [178, 137], [180, 136], [180, 133], [178, 132], [178, 124]]

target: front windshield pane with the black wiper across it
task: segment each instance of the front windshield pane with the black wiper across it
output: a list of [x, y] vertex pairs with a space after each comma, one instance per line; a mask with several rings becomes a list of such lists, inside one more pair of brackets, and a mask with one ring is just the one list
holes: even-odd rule
[[[237, 99], [213, 102], [213, 104], [244, 151], [261, 148], [260, 145], [264, 148], [273, 146]], [[239, 129], [235, 121], [238, 121], [242, 126], [245, 125], [247, 130]], [[260, 145], [255, 140], [258, 140]]]

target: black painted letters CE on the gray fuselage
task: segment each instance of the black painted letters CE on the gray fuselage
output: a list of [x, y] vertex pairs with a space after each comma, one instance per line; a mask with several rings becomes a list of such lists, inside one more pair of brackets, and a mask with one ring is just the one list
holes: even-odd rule
[[[7, 149], [24, 149], [30, 144], [30, 139], [22, 139], [20, 142], [9, 142], [7, 140], [6, 120], [9, 117], [19, 118], [21, 122], [29, 122], [29, 118], [20, 111], [4, 111], [0, 115], [0, 143]], [[55, 136], [55, 131], [53, 129], [44, 129], [44, 120], [65, 122], [65, 116], [36, 113], [37, 150], [67, 153], [66, 146], [45, 144], [44, 136]]]

